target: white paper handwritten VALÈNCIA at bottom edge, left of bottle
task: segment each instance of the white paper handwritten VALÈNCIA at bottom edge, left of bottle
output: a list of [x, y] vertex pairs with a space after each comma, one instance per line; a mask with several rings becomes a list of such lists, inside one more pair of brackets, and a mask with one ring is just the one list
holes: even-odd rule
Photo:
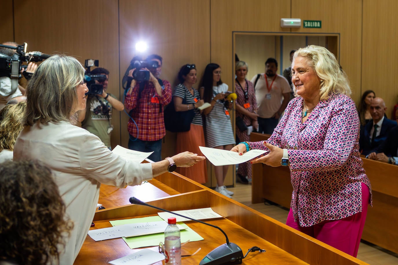
[[164, 255], [162, 253], [153, 250], [143, 249], [135, 252], [134, 254], [121, 257], [120, 259], [109, 261], [109, 263], [113, 265], [120, 265], [120, 264], [150, 265], [161, 260], [164, 260]]

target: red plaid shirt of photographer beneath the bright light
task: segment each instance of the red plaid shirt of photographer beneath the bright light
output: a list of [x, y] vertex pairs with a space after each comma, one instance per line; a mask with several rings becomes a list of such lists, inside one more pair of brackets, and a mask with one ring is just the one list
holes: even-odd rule
[[[135, 85], [131, 93], [126, 95], [125, 107], [131, 110], [130, 116], [137, 123], [139, 132], [137, 133], [137, 127], [131, 119], [129, 119], [127, 130], [133, 137], [138, 135], [138, 139], [142, 141], [157, 141], [166, 135], [163, 109], [172, 99], [172, 90], [168, 81], [162, 81], [164, 85], [162, 97], [156, 93], [152, 82], [148, 82], [145, 85], [139, 99], [139, 83]], [[159, 102], [155, 103], [152, 97], [156, 97]]]

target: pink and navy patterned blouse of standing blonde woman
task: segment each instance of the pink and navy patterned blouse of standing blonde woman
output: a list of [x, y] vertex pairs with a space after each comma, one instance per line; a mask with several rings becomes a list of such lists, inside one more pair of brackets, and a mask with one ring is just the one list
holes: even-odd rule
[[[301, 123], [303, 100], [290, 101], [268, 143], [289, 149], [291, 209], [300, 226], [362, 211], [361, 183], [371, 184], [359, 157], [359, 117], [346, 95], [331, 95]], [[252, 149], [266, 149], [263, 141]], [[295, 149], [297, 148], [297, 150]], [[372, 205], [371, 196], [369, 204]]]

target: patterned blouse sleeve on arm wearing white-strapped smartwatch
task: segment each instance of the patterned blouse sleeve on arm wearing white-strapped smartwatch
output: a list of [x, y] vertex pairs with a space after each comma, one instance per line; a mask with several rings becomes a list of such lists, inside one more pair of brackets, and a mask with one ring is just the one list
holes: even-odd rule
[[329, 171], [341, 168], [349, 158], [359, 135], [355, 103], [348, 97], [338, 99], [330, 113], [323, 149], [289, 150], [291, 170]]

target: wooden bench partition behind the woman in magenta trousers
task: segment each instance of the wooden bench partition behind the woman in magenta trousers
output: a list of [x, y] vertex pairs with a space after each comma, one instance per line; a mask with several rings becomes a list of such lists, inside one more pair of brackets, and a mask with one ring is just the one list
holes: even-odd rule
[[[251, 141], [268, 139], [252, 133]], [[373, 207], [368, 207], [362, 239], [398, 253], [398, 166], [361, 157], [371, 182]], [[252, 203], [264, 199], [290, 208], [292, 184], [287, 166], [253, 165]]]

